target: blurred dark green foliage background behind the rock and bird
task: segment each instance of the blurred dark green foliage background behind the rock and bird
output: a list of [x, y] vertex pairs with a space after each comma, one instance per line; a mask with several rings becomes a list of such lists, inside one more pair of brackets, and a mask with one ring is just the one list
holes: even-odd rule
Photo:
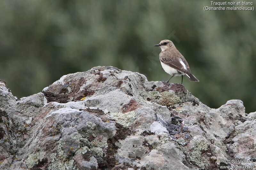
[[153, 45], [170, 39], [200, 80], [183, 81], [193, 95], [213, 108], [240, 99], [255, 111], [255, 12], [204, 6], [210, 1], [0, 1], [0, 78], [18, 98], [99, 65], [167, 80]]

